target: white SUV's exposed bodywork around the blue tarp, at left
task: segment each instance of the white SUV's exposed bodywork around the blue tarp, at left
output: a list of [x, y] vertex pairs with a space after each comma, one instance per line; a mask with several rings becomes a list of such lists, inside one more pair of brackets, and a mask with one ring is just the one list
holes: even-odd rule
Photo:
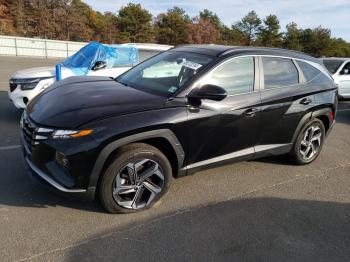
[[[122, 44], [114, 45], [117, 46], [130, 46], [134, 47], [137, 50], [137, 61], [133, 64], [113, 64], [113, 66], [107, 66], [104, 61], [102, 65], [101, 61], [97, 61], [96, 64], [87, 70], [87, 76], [110, 76], [117, 77], [120, 74], [124, 73], [126, 70], [130, 69], [135, 64], [138, 64], [149, 57], [152, 57], [160, 52], [170, 49], [172, 46], [168, 45], [157, 45], [157, 44]], [[80, 50], [81, 51], [81, 50]], [[78, 51], [78, 52], [80, 52]], [[84, 57], [84, 56], [81, 56]], [[90, 59], [90, 58], [87, 58]], [[60, 78], [63, 79], [69, 76], [76, 75], [76, 72], [72, 68], [62, 66], [60, 69]], [[10, 80], [10, 88], [8, 91], [10, 100], [17, 108], [24, 109], [27, 103], [32, 100], [36, 95], [41, 93], [43, 90], [48, 88], [50, 85], [57, 81], [56, 68], [55, 66], [51, 67], [34, 67], [29, 69], [20, 70], [14, 73]]]

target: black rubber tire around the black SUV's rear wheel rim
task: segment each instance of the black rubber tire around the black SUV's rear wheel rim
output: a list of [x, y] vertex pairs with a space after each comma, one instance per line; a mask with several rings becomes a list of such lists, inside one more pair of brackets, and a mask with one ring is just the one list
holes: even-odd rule
[[[308, 130], [310, 130], [311, 127], [318, 127], [319, 128], [319, 133], [320, 133], [320, 145], [317, 149], [317, 152], [315, 152], [312, 157], [310, 158], [306, 158], [302, 155], [301, 151], [303, 150], [303, 148], [307, 148], [306, 146], [304, 146], [302, 144], [302, 141], [304, 140], [305, 136], [306, 136], [306, 132]], [[320, 152], [322, 151], [322, 147], [323, 147], [323, 143], [325, 140], [325, 127], [322, 123], [321, 120], [315, 118], [312, 119], [310, 122], [306, 123], [303, 128], [300, 130], [294, 144], [293, 144], [293, 148], [291, 150], [291, 152], [289, 153], [289, 160], [296, 165], [306, 165], [306, 164], [310, 164], [311, 162], [313, 162], [318, 155], [320, 154]], [[309, 142], [310, 143], [310, 142]], [[306, 150], [305, 150], [306, 151]]]

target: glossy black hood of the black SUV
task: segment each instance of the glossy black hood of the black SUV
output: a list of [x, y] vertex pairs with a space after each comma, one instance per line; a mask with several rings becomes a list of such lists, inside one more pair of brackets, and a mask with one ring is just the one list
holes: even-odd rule
[[74, 129], [99, 118], [158, 109], [165, 101], [108, 77], [69, 77], [35, 97], [27, 114], [39, 125]]

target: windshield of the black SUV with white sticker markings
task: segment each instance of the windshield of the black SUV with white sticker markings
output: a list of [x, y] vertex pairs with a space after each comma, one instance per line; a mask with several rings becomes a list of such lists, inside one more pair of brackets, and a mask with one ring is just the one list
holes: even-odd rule
[[212, 60], [203, 54], [168, 51], [130, 69], [117, 81], [146, 92], [170, 96]]

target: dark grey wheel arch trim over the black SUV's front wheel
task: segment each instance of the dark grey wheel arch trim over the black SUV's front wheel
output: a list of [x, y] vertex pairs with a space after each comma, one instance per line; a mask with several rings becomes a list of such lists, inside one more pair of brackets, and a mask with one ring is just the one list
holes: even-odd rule
[[[170, 129], [146, 131], [120, 138], [106, 145], [96, 159], [90, 176], [89, 187], [97, 187], [99, 178], [106, 164], [108, 164], [108, 161], [117, 153], [118, 149], [135, 142], [146, 143], [162, 151], [166, 157], [169, 158], [173, 171], [177, 171], [176, 169], [182, 167], [185, 153], [174, 132]], [[162, 142], [166, 144], [163, 145]], [[176, 161], [175, 165], [173, 161]]]

